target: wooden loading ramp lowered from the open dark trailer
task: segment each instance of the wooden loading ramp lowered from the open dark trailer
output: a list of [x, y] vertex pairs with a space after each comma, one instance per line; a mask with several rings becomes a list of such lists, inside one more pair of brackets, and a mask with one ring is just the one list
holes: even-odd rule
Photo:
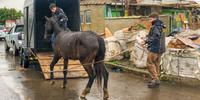
[[[38, 53], [37, 56], [38, 56], [40, 67], [42, 69], [45, 79], [50, 79], [49, 65], [52, 61], [53, 54], [49, 52]], [[60, 59], [54, 67], [55, 79], [63, 78], [63, 66], [64, 66], [63, 59]], [[84, 77], [88, 77], [88, 75], [78, 60], [69, 60], [67, 77], [68, 78], [84, 78]]]

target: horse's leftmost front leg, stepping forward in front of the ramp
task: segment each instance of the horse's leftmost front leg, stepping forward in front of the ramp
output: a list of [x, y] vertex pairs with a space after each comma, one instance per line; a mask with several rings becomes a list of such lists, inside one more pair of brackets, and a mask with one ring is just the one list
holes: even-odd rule
[[54, 57], [53, 57], [53, 60], [52, 60], [52, 62], [51, 62], [51, 64], [50, 64], [50, 80], [51, 80], [51, 84], [53, 85], [55, 82], [54, 82], [54, 74], [53, 74], [53, 69], [54, 69], [54, 66], [55, 66], [55, 64], [58, 62], [58, 60], [60, 59], [60, 57], [59, 56], [57, 56], [57, 55], [54, 55]]

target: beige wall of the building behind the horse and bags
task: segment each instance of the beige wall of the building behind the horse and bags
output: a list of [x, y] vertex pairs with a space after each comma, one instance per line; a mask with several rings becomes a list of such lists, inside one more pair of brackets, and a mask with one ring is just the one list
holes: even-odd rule
[[[82, 31], [91, 30], [97, 32], [98, 34], [103, 33], [105, 27], [114, 33], [117, 30], [130, 27], [131, 25], [140, 23], [145, 24], [144, 26], [149, 27], [148, 20], [141, 17], [121, 17], [121, 18], [105, 18], [104, 17], [104, 7], [105, 5], [81, 5], [81, 13], [84, 11], [91, 11], [91, 24], [86, 24], [85, 22], [81, 25]], [[167, 26], [166, 33], [169, 33], [169, 18], [168, 16], [161, 16], [161, 20], [164, 21]]]

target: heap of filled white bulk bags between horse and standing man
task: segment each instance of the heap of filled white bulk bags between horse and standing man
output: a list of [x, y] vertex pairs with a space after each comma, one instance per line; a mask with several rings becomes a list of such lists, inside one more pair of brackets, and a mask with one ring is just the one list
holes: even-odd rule
[[[147, 54], [140, 44], [147, 35], [147, 30], [141, 24], [135, 24], [123, 28], [112, 34], [108, 28], [105, 29], [106, 61], [122, 60], [127, 56], [137, 67], [145, 67]], [[127, 52], [124, 52], [127, 51]], [[146, 51], [146, 50], [145, 50]]]

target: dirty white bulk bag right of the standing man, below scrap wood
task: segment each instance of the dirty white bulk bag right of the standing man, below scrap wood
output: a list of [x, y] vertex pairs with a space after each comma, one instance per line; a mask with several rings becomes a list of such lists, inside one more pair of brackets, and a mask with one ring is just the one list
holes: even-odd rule
[[165, 74], [200, 80], [200, 52], [195, 49], [168, 49], [162, 57]]

